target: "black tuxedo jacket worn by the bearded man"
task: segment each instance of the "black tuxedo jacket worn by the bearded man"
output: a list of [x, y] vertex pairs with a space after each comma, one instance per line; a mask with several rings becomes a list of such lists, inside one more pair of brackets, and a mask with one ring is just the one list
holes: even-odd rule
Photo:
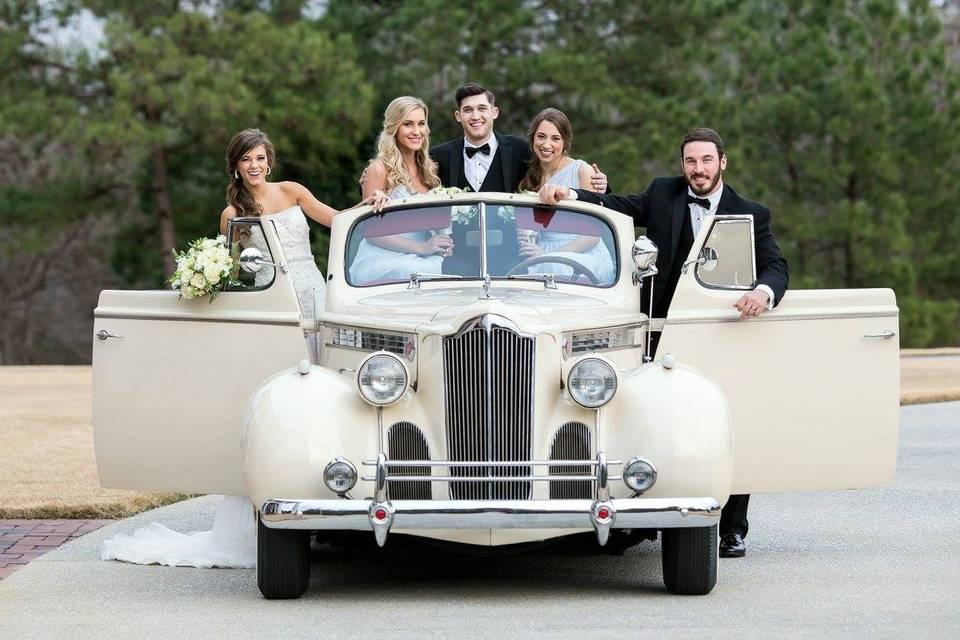
[[[680, 279], [680, 267], [693, 244], [687, 183], [683, 176], [656, 178], [646, 191], [636, 195], [618, 196], [577, 189], [577, 198], [632, 216], [636, 226], [646, 228], [647, 237], [660, 250], [657, 256], [659, 273], [654, 276], [653, 317], [666, 317]], [[753, 216], [756, 284], [770, 287], [773, 290], [773, 304], [779, 304], [787, 291], [789, 273], [787, 261], [780, 253], [770, 229], [770, 210], [741, 198], [730, 185], [724, 184], [716, 213]]]

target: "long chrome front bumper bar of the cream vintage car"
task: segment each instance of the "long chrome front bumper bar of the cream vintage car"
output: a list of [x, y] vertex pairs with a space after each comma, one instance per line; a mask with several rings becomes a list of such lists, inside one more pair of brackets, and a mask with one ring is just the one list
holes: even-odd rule
[[[371, 531], [371, 500], [266, 500], [274, 529]], [[391, 529], [593, 529], [594, 500], [397, 500]], [[608, 503], [618, 529], [709, 527], [720, 503], [708, 497], [617, 498]]]

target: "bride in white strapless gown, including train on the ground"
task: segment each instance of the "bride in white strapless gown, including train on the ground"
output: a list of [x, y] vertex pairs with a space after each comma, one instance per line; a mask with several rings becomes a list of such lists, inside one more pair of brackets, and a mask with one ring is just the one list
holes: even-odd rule
[[[271, 218], [276, 223], [301, 313], [312, 318], [314, 308], [319, 311], [323, 303], [325, 284], [310, 251], [306, 217], [329, 227], [338, 212], [313, 197], [303, 185], [267, 181], [275, 163], [273, 144], [259, 129], [245, 129], [233, 137], [227, 147], [230, 185], [228, 204], [220, 216], [220, 232], [226, 234], [227, 222], [233, 217]], [[372, 190], [359, 204], [380, 209], [388, 200], [383, 191]], [[313, 341], [307, 342], [316, 360]], [[105, 541], [101, 557], [136, 564], [253, 567], [257, 557], [254, 514], [246, 496], [225, 496], [217, 508], [213, 531], [183, 534], [154, 522], [132, 535], [117, 534]]]

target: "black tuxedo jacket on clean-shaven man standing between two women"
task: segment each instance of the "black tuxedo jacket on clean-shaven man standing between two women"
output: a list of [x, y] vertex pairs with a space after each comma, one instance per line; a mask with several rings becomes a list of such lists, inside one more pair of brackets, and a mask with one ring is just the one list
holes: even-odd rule
[[[501, 135], [497, 137], [497, 152], [493, 154], [490, 170], [480, 185], [480, 191], [502, 191], [516, 193], [520, 181], [527, 173], [530, 160], [530, 145], [523, 138]], [[463, 174], [463, 138], [457, 138], [439, 144], [430, 149], [430, 156], [437, 161], [440, 169], [440, 182], [445, 187], [473, 187]]]

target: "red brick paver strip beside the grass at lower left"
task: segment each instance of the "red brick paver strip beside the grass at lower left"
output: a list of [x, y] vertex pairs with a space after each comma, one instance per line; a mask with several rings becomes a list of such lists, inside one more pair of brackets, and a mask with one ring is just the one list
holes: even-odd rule
[[0, 580], [67, 540], [113, 520], [0, 520]]

